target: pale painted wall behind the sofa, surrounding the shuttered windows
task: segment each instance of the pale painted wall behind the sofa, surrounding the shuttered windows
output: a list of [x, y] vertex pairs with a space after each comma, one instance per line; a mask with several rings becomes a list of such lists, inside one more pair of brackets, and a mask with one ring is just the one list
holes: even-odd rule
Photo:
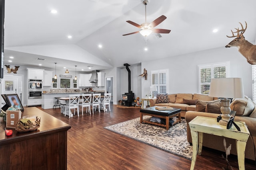
[[252, 66], [236, 48], [225, 47], [142, 62], [141, 68], [148, 70], [148, 80], [142, 81], [142, 96], [150, 87], [151, 70], [169, 68], [169, 93], [198, 93], [198, 64], [224, 61], [230, 61], [231, 77], [243, 78], [244, 94], [252, 98]]

